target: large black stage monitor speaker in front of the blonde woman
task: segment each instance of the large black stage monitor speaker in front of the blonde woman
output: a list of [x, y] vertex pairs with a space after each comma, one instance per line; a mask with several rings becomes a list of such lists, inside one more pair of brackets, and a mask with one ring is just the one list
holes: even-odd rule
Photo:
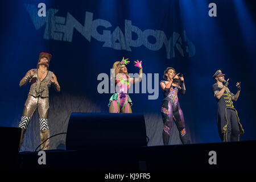
[[142, 114], [72, 113], [66, 150], [141, 147], [147, 145]]

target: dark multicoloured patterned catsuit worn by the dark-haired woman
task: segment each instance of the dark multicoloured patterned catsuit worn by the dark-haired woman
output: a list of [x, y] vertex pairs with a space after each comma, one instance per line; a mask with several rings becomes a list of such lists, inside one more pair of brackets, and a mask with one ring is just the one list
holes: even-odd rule
[[[165, 81], [163, 82], [166, 85]], [[171, 86], [170, 89], [164, 89], [164, 99], [162, 101], [161, 113], [164, 123], [163, 129], [163, 142], [164, 145], [168, 145], [171, 129], [172, 129], [172, 119], [174, 119], [177, 129], [180, 133], [180, 139], [183, 144], [187, 143], [187, 135], [185, 130], [185, 122], [183, 117], [183, 111], [180, 109], [179, 98], [177, 94], [185, 94], [185, 90], [178, 86]]]

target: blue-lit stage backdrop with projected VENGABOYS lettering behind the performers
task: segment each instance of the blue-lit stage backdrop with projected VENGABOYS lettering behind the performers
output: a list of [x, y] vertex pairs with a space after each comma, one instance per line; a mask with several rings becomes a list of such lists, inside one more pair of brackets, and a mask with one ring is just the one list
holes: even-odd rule
[[[45, 17], [38, 16], [42, 2]], [[212, 2], [216, 17], [208, 15]], [[221, 142], [212, 93], [217, 69], [230, 78], [233, 93], [241, 81], [234, 103], [245, 129], [240, 139], [256, 139], [253, 1], [1, 1], [0, 13], [0, 126], [18, 126], [29, 90], [28, 85], [20, 88], [19, 81], [36, 68], [40, 52], [49, 52], [49, 70], [61, 86], [60, 93], [50, 90], [51, 135], [67, 131], [72, 112], [108, 112], [112, 94], [98, 92], [97, 78], [100, 73], [110, 76], [114, 61], [124, 56], [142, 60], [147, 80], [152, 74], [154, 93], [130, 94], [133, 112], [146, 119], [149, 146], [163, 144], [159, 81], [166, 67], [184, 76], [186, 94], [179, 99], [192, 143]], [[138, 73], [131, 63], [127, 68]], [[38, 145], [39, 118], [34, 114], [22, 149], [32, 151]], [[52, 138], [50, 147], [65, 148], [65, 135]]]

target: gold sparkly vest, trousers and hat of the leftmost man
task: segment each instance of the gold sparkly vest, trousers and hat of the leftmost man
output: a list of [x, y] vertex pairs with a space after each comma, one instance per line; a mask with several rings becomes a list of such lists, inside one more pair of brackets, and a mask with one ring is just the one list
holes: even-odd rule
[[[39, 60], [42, 57], [47, 57], [48, 60], [51, 59], [51, 55], [48, 53], [40, 53]], [[30, 78], [25, 78], [25, 84], [30, 81], [30, 92], [28, 93], [27, 101], [24, 105], [22, 118], [19, 122], [19, 127], [22, 129], [22, 135], [20, 137], [19, 149], [22, 146], [24, 134], [27, 130], [28, 124], [34, 114], [36, 108], [39, 114], [39, 124], [40, 124], [40, 142], [43, 143], [44, 140], [49, 138], [49, 127], [48, 127], [48, 110], [49, 110], [49, 87], [51, 86], [51, 78], [53, 77], [53, 72], [47, 71], [46, 77], [41, 81], [38, 76], [38, 70], [35, 71], [35, 75]], [[49, 149], [49, 140], [41, 145], [42, 150]]]

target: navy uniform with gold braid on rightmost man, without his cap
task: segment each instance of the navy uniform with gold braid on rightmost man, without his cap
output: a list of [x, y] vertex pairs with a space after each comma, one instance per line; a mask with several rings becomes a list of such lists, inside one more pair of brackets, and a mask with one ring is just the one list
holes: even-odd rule
[[[213, 84], [212, 92], [214, 97], [222, 89], [221, 85]], [[232, 99], [234, 94], [226, 88], [224, 94], [217, 101], [217, 125], [218, 133], [223, 142], [239, 141], [240, 136], [245, 132], [234, 109]]]

